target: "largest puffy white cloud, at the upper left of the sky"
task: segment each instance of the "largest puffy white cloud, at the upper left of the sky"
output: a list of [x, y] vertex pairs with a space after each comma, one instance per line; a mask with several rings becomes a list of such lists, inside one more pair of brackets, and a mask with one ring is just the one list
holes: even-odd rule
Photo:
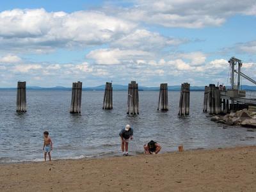
[[46, 12], [44, 9], [0, 12], [0, 45], [35, 52], [56, 47], [101, 45], [130, 33], [133, 22], [103, 12]]

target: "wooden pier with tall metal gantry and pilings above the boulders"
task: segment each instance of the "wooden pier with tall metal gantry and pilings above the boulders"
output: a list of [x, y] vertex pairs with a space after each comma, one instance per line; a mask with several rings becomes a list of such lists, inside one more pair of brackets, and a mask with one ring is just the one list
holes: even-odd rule
[[[209, 112], [210, 114], [228, 113], [244, 108], [248, 109], [249, 106], [256, 105], [256, 99], [246, 98], [246, 91], [241, 89], [241, 77], [253, 84], [256, 84], [256, 81], [241, 72], [241, 67], [243, 66], [241, 60], [232, 57], [228, 63], [230, 65], [231, 87], [227, 89], [222, 84], [220, 86], [209, 84], [207, 88], [205, 86], [204, 112]], [[235, 74], [237, 74], [237, 77]]]

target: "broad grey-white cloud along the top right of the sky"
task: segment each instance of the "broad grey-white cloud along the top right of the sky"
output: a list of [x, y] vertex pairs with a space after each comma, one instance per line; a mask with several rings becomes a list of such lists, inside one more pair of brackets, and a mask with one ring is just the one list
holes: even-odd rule
[[256, 2], [138, 0], [132, 8], [120, 8], [118, 11], [118, 15], [125, 19], [182, 28], [220, 26], [228, 17], [236, 14], [256, 15]]

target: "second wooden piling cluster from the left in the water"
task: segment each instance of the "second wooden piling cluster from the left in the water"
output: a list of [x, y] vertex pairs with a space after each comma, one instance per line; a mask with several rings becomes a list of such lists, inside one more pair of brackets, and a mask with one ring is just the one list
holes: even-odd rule
[[78, 81], [72, 85], [72, 98], [70, 113], [81, 113], [82, 82]]

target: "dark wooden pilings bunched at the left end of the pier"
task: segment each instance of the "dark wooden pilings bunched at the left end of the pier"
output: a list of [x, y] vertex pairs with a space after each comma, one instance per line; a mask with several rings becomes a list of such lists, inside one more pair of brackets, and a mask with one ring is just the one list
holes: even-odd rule
[[230, 111], [229, 100], [220, 98], [220, 88], [215, 86], [215, 84], [205, 86], [203, 111], [210, 114], [227, 113]]

